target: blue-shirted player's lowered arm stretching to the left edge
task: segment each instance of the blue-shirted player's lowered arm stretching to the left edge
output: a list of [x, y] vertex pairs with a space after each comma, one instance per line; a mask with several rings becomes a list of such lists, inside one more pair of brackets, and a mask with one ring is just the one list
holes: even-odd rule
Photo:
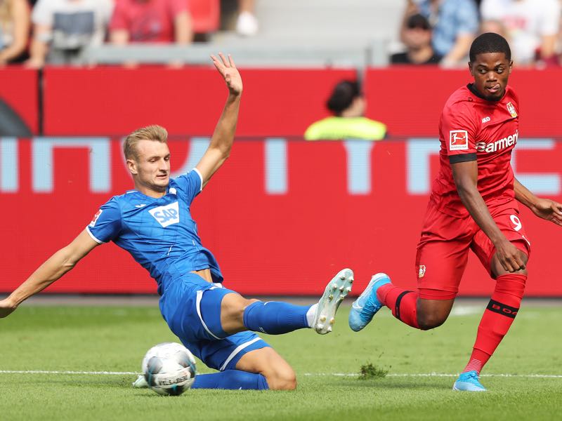
[[84, 229], [72, 243], [58, 250], [43, 265], [39, 266], [8, 298], [0, 300], [0, 318], [11, 314], [24, 300], [44, 290], [70, 271], [81, 258], [84, 258], [96, 246], [98, 246], [98, 243], [93, 241]]

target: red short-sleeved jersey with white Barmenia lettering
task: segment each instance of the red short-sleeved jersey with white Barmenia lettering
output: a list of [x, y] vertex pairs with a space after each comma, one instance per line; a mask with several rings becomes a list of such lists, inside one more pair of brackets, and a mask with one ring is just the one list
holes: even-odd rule
[[452, 178], [451, 163], [478, 161], [478, 192], [488, 206], [513, 200], [511, 150], [519, 136], [518, 98], [506, 88], [504, 97], [488, 101], [471, 86], [457, 89], [447, 100], [439, 121], [440, 171], [431, 200], [443, 213], [466, 216]]

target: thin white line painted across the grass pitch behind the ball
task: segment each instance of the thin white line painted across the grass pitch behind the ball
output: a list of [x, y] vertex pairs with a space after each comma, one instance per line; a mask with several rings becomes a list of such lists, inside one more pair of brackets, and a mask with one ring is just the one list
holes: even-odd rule
[[[84, 374], [84, 375], [140, 375], [135, 371], [49, 371], [49, 370], [0, 370], [0, 374]], [[306, 376], [334, 375], [357, 377], [358, 373], [304, 373]], [[457, 377], [450, 373], [390, 373], [386, 377]], [[481, 377], [562, 378], [562, 374], [482, 374]]]

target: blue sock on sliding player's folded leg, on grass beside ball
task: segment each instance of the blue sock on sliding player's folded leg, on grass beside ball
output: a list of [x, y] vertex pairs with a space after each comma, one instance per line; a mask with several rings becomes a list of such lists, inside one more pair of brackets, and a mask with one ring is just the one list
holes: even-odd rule
[[240, 370], [226, 370], [220, 373], [198, 374], [192, 389], [269, 389], [266, 377], [261, 374]]

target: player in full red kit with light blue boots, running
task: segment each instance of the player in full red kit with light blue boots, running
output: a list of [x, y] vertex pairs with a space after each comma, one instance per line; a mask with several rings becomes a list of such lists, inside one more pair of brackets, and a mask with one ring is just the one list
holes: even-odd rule
[[512, 65], [502, 36], [487, 33], [473, 41], [469, 69], [474, 82], [452, 93], [439, 123], [440, 171], [417, 246], [418, 290], [394, 286], [386, 274], [376, 274], [349, 315], [355, 331], [383, 305], [414, 328], [440, 326], [451, 311], [472, 250], [496, 286], [455, 390], [485, 391], [480, 371], [509, 330], [523, 298], [530, 243], [517, 202], [562, 226], [562, 205], [529, 192], [510, 165], [519, 136], [518, 98], [507, 86]]

